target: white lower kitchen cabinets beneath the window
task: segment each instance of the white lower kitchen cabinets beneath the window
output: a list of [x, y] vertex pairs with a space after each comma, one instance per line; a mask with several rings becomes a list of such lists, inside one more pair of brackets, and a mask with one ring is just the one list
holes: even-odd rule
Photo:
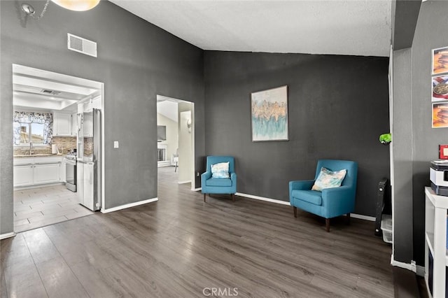
[[15, 158], [13, 164], [14, 187], [64, 182], [62, 157]]

